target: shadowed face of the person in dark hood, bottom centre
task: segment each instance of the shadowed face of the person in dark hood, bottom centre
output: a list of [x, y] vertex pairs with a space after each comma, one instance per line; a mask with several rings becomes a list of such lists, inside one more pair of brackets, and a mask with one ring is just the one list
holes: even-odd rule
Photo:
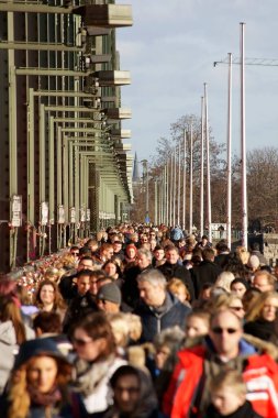
[[134, 375], [119, 377], [114, 387], [114, 400], [121, 413], [131, 414], [140, 400], [140, 382]]

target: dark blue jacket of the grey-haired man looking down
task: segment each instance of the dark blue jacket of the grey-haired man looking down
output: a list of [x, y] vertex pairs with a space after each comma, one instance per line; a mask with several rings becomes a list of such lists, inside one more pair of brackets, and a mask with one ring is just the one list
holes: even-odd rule
[[143, 332], [141, 341], [153, 341], [155, 336], [166, 328], [178, 326], [185, 329], [186, 317], [191, 311], [174, 295], [166, 292], [166, 299], [158, 309], [147, 306], [144, 301], [134, 310], [141, 317]]

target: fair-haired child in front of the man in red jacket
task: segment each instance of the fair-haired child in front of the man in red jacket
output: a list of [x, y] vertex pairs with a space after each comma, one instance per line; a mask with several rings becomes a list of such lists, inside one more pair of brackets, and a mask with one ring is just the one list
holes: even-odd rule
[[213, 377], [210, 394], [205, 418], [262, 418], [246, 400], [246, 386], [237, 371], [229, 370]]

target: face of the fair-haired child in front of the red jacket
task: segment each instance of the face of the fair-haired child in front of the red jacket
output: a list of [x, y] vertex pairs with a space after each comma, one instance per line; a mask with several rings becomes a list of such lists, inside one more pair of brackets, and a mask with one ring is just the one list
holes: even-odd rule
[[218, 411], [226, 416], [236, 411], [244, 404], [245, 395], [238, 395], [232, 386], [223, 386], [213, 392], [211, 400]]

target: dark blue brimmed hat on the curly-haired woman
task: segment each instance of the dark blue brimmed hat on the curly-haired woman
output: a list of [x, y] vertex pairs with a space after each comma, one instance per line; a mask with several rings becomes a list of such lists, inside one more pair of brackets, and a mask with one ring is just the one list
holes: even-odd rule
[[52, 338], [42, 338], [24, 341], [20, 345], [19, 354], [15, 356], [14, 370], [20, 369], [30, 359], [38, 355], [46, 355], [69, 363], [58, 350], [57, 344]]

